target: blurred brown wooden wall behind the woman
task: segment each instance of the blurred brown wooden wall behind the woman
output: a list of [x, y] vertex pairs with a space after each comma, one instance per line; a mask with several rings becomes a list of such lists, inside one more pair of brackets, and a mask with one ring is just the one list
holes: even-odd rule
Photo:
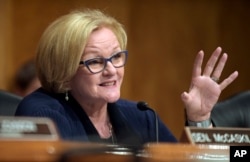
[[199, 50], [205, 61], [217, 46], [229, 54], [221, 79], [239, 71], [221, 100], [250, 89], [249, 0], [0, 0], [0, 89], [11, 89], [45, 28], [81, 8], [99, 8], [125, 25], [129, 60], [122, 97], [148, 102], [177, 138], [184, 126], [180, 94], [189, 88]]

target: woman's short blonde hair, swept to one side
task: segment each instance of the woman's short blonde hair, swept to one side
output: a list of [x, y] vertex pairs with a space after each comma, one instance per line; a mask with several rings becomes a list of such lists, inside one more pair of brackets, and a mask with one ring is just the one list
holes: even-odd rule
[[69, 90], [68, 82], [75, 75], [90, 34], [108, 27], [126, 49], [127, 35], [115, 18], [99, 10], [74, 11], [54, 21], [38, 44], [36, 65], [42, 87], [50, 92]]

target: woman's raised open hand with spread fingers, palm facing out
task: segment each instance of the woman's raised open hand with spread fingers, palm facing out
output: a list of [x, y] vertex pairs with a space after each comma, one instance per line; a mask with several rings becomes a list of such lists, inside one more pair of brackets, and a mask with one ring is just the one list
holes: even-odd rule
[[186, 108], [187, 118], [191, 121], [203, 121], [208, 119], [221, 92], [238, 76], [238, 72], [235, 71], [226, 79], [219, 81], [228, 58], [226, 53], [223, 53], [220, 57], [221, 52], [221, 47], [216, 48], [209, 58], [203, 72], [202, 62], [204, 52], [200, 51], [197, 54], [189, 92], [183, 92], [181, 94], [182, 101]]

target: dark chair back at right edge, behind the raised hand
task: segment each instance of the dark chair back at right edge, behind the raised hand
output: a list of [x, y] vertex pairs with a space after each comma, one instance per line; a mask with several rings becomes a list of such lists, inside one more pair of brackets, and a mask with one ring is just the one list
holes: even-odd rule
[[250, 128], [250, 91], [244, 91], [218, 102], [211, 112], [216, 127]]

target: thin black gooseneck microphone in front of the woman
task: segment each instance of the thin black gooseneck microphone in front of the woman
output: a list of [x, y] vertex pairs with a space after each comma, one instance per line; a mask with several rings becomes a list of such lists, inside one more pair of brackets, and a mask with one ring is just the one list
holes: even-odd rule
[[159, 142], [159, 126], [158, 126], [158, 117], [156, 114], [156, 111], [148, 106], [148, 104], [144, 101], [139, 101], [137, 103], [137, 108], [142, 111], [150, 110], [154, 113], [155, 116], [155, 137], [156, 137], [156, 143]]

